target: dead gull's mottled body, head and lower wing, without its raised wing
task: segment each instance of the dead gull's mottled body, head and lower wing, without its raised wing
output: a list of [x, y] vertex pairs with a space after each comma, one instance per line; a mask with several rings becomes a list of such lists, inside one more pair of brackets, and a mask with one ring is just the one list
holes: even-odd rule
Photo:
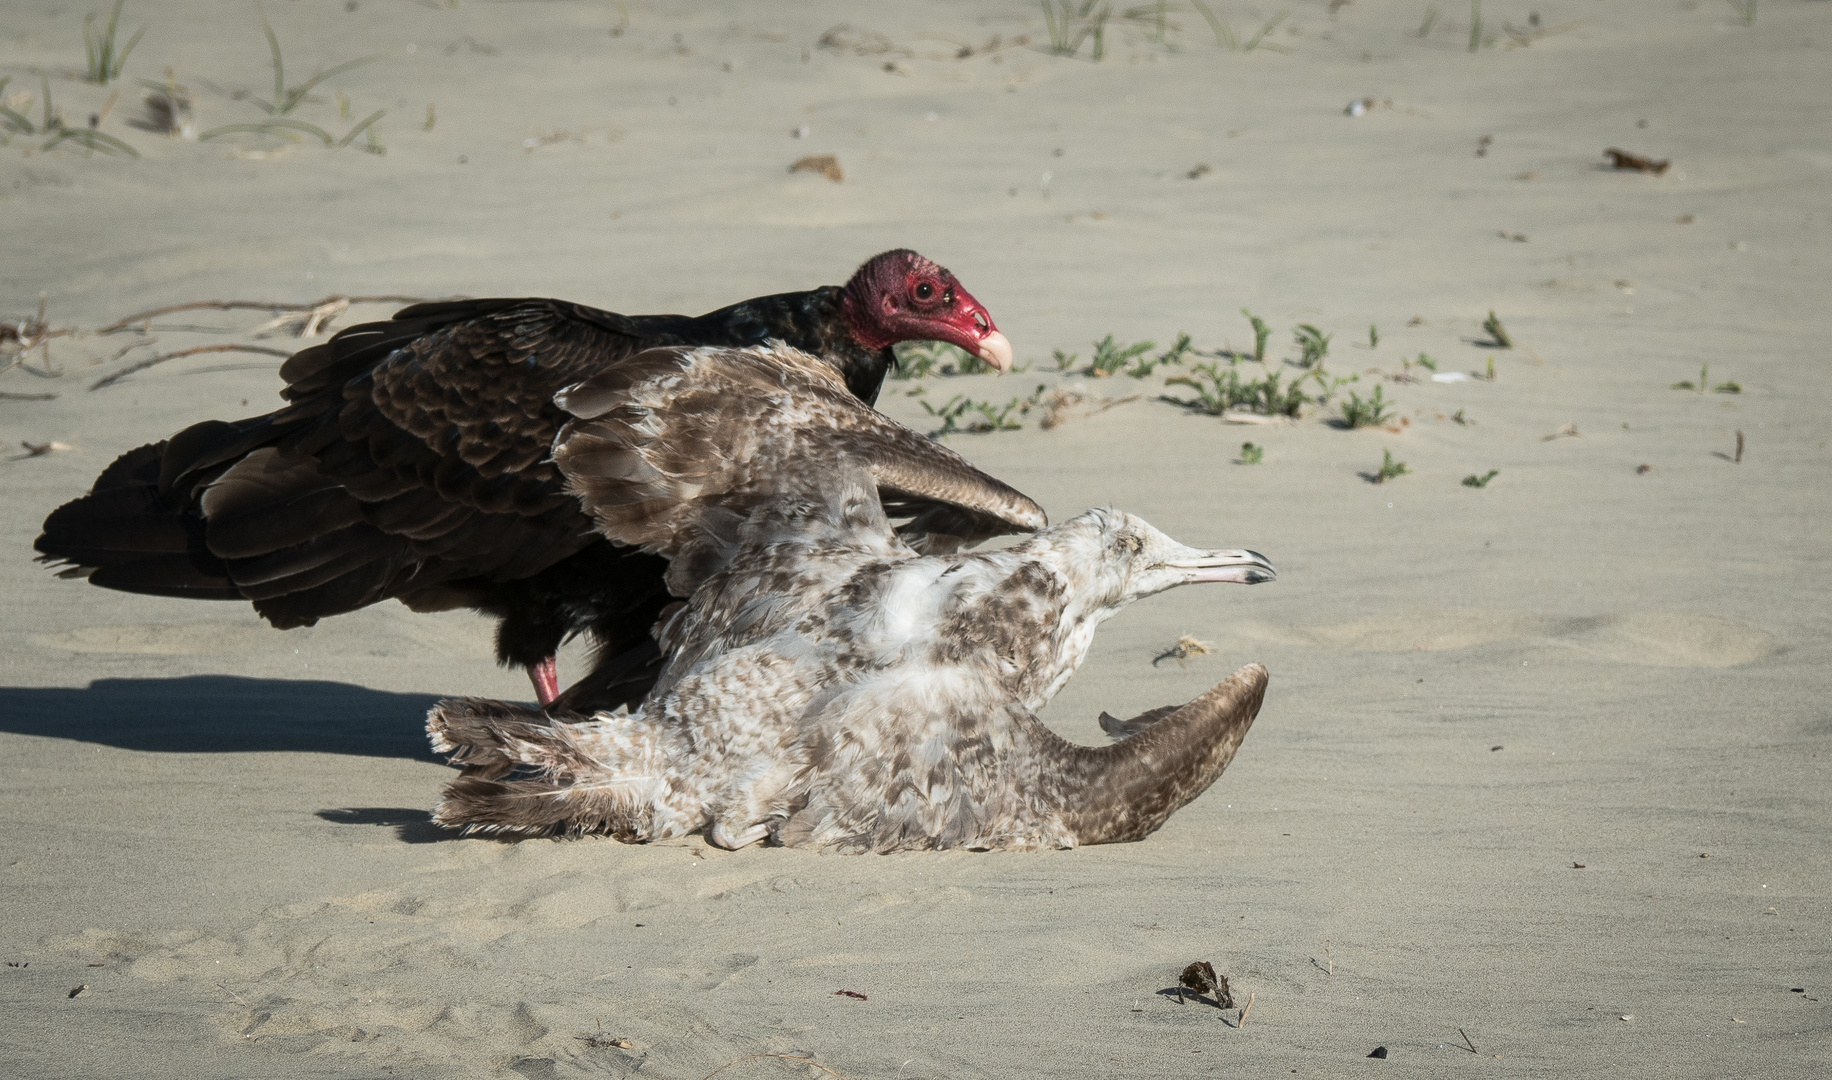
[[685, 527], [674, 567], [694, 567], [691, 599], [658, 628], [667, 668], [634, 712], [434, 707], [434, 749], [467, 767], [434, 820], [627, 842], [705, 831], [720, 848], [1074, 848], [1138, 840], [1220, 776], [1259, 712], [1259, 664], [1183, 707], [1103, 716], [1118, 743], [1101, 749], [1035, 710], [1121, 608], [1271, 580], [1262, 555], [1185, 547], [1112, 509], [1004, 551], [918, 555], [868, 472], [823, 476]]

